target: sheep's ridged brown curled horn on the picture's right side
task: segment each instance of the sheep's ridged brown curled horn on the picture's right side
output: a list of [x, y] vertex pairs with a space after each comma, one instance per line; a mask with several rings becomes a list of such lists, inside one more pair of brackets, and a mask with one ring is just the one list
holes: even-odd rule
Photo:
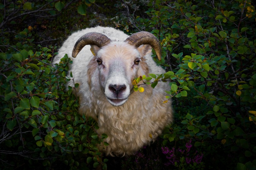
[[135, 34], [132, 34], [128, 37], [125, 42], [130, 45], [135, 46], [136, 48], [142, 44], [149, 44], [155, 50], [158, 60], [161, 60], [161, 46], [159, 40], [155, 37], [155, 35], [150, 32], [141, 31]]

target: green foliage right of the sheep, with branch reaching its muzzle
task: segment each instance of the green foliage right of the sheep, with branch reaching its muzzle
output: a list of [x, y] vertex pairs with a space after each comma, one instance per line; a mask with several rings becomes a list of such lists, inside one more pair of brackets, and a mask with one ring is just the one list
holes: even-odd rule
[[156, 62], [170, 71], [136, 78], [136, 87], [154, 88], [163, 81], [170, 84], [163, 102], [179, 104], [184, 100], [179, 97], [190, 95], [205, 102], [200, 114], [194, 106], [185, 105], [182, 112], [174, 104], [180, 114], [164, 132], [163, 145], [193, 139], [207, 169], [255, 169], [254, 6], [250, 1], [150, 1], [148, 6], [150, 19], [136, 21], [160, 38], [164, 56]]

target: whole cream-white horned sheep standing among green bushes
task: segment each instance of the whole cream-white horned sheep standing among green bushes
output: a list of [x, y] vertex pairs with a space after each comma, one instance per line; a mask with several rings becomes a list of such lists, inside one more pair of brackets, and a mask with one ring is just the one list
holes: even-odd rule
[[[152, 59], [151, 48], [161, 59], [159, 40], [149, 32], [128, 36], [110, 27], [87, 28], [73, 33], [59, 49], [53, 63], [67, 54], [74, 82], [79, 83], [79, 113], [97, 120], [98, 134], [107, 134], [109, 145], [100, 151], [106, 155], [133, 154], [154, 141], [172, 121], [171, 102], [165, 101], [168, 83], [144, 92], [134, 92], [133, 79], [164, 69]], [[66, 86], [74, 87], [70, 81]]]

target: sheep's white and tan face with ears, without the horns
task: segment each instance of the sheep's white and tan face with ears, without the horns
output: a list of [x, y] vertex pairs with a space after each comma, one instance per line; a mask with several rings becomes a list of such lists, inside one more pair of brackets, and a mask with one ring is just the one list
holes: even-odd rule
[[111, 42], [102, 48], [91, 47], [98, 64], [101, 89], [113, 106], [121, 106], [133, 92], [133, 78], [138, 77], [138, 73], [146, 74], [142, 58], [151, 52], [151, 46], [135, 48], [126, 42]]

